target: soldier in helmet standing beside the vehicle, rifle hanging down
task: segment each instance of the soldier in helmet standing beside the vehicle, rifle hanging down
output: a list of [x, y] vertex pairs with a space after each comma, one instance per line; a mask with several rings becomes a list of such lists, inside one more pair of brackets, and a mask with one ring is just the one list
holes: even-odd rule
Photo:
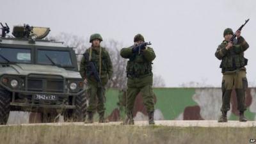
[[[89, 58], [86, 60], [83, 56], [80, 64], [80, 74], [84, 79], [84, 83], [88, 83], [89, 106], [87, 108], [88, 119], [85, 123], [93, 123], [93, 114], [96, 109], [99, 113], [99, 122], [106, 122], [104, 118], [105, 86], [113, 74], [113, 67], [108, 51], [100, 46], [100, 42], [102, 42], [102, 37], [98, 33], [90, 36], [92, 47], [86, 49]], [[89, 61], [92, 61], [98, 70], [101, 84], [95, 77], [90, 76], [89, 70], [86, 69]]]

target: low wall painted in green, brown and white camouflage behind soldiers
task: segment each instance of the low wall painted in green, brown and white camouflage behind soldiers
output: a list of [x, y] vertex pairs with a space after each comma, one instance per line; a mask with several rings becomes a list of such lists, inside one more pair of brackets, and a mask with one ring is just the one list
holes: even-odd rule
[[[221, 88], [154, 88], [155, 120], [217, 120], [220, 116]], [[106, 114], [109, 120], [125, 118], [124, 92], [110, 89], [106, 93]], [[256, 88], [246, 92], [245, 115], [256, 119]], [[229, 120], [238, 120], [236, 92], [232, 92]], [[134, 106], [134, 119], [147, 120], [147, 111], [139, 94]]]

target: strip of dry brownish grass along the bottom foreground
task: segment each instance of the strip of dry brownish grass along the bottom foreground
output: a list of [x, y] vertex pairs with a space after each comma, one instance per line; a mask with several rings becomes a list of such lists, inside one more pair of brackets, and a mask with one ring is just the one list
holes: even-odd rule
[[256, 129], [166, 126], [6, 126], [0, 127], [2, 144], [53, 143], [249, 143]]

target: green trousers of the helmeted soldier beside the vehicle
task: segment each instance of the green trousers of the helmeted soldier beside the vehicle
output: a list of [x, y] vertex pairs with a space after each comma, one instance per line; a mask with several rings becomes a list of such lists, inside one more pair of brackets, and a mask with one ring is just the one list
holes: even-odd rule
[[105, 111], [104, 103], [106, 101], [105, 97], [106, 88], [104, 86], [99, 86], [97, 83], [91, 83], [88, 81], [87, 94], [89, 96], [89, 106], [87, 108], [88, 112], [93, 112], [97, 110], [98, 113]]

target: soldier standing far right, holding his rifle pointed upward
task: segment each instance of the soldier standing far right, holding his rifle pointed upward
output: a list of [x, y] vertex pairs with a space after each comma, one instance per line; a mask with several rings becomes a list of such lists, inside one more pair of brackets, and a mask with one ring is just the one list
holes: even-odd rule
[[249, 45], [241, 36], [241, 31], [236, 31], [237, 40], [231, 42], [230, 39], [234, 35], [232, 29], [225, 29], [223, 36], [225, 40], [218, 46], [215, 56], [221, 60], [221, 72], [223, 79], [221, 83], [222, 89], [222, 106], [220, 119], [218, 122], [227, 122], [227, 111], [230, 110], [230, 97], [232, 89], [236, 90], [237, 109], [239, 110], [239, 121], [246, 122], [244, 117], [245, 106], [245, 91], [248, 87], [246, 79], [247, 59], [244, 58], [244, 51]]

